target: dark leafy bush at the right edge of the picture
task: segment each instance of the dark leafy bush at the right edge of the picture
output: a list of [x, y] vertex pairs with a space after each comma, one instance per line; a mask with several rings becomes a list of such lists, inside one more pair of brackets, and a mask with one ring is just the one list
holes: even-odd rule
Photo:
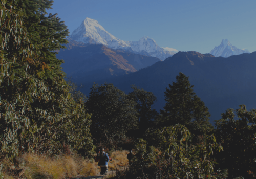
[[[236, 120], [237, 118], [237, 120]], [[228, 169], [228, 178], [254, 178], [256, 173], [256, 110], [228, 109], [216, 120], [216, 137], [224, 150], [216, 154], [221, 168]]]

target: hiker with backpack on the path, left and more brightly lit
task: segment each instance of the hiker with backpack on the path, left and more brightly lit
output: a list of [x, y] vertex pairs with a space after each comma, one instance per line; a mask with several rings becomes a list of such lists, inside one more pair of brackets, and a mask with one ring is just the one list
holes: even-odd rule
[[102, 148], [96, 150], [97, 156], [94, 157], [95, 162], [99, 162], [100, 175], [106, 175], [108, 173], [108, 162], [110, 160], [109, 155], [105, 153], [105, 149]]

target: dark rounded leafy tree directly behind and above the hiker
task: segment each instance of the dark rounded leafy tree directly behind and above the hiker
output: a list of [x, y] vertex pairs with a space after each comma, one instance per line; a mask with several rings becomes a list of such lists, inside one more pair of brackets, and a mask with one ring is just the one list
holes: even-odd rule
[[113, 84], [94, 84], [86, 103], [92, 113], [91, 132], [94, 143], [120, 141], [137, 127], [135, 102]]

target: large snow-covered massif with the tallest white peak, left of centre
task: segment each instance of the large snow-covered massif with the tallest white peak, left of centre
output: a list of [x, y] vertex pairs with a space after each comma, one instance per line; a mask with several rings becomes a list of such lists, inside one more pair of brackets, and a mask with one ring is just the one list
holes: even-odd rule
[[69, 39], [89, 44], [103, 44], [112, 49], [123, 49], [136, 54], [157, 57], [161, 60], [173, 56], [178, 51], [171, 48], [160, 48], [156, 41], [147, 36], [139, 41], [123, 41], [107, 32], [97, 20], [86, 18], [73, 31]]

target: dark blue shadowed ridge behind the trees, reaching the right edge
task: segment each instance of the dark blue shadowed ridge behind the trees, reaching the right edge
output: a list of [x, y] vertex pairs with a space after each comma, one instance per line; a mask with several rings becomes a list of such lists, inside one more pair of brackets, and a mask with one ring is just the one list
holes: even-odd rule
[[[256, 94], [256, 52], [234, 55], [228, 58], [214, 57], [198, 52], [178, 52], [162, 62], [157, 62], [138, 72], [114, 78], [98, 80], [96, 83], [113, 83], [126, 93], [130, 92], [131, 84], [153, 92], [157, 97], [155, 107], [162, 109], [164, 91], [168, 84], [175, 81], [179, 72], [189, 76], [194, 91], [209, 108], [210, 121], [220, 119], [221, 113], [227, 108], [236, 108], [245, 104], [247, 108], [255, 108]], [[64, 69], [65, 70], [65, 69]], [[84, 79], [86, 86], [83, 92], [88, 95], [92, 83]]]

